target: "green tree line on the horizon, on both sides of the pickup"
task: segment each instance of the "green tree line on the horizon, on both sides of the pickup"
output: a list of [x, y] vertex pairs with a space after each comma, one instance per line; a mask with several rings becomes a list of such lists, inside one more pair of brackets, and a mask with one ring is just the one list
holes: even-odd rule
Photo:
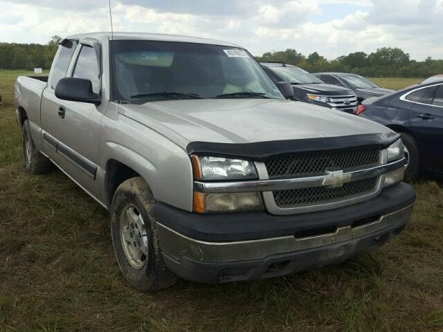
[[[60, 36], [45, 44], [0, 43], [0, 69], [51, 68]], [[443, 73], [443, 59], [428, 57], [424, 61], [410, 59], [401, 48], [383, 47], [366, 54], [354, 52], [328, 60], [317, 52], [303, 55], [293, 48], [266, 52], [258, 61], [284, 62], [309, 71], [357, 73], [367, 77], [428, 77]]]

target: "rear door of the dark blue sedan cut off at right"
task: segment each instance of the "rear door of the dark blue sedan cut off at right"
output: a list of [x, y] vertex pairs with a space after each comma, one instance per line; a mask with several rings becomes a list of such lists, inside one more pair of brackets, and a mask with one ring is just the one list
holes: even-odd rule
[[414, 102], [409, 123], [419, 142], [422, 165], [443, 172], [443, 84], [410, 93], [406, 100]]

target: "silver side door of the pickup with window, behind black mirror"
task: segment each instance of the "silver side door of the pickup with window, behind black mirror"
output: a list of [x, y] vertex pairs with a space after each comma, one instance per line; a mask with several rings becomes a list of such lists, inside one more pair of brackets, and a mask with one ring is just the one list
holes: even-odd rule
[[[100, 93], [101, 49], [97, 48], [100, 48], [98, 43], [81, 42], [66, 76], [91, 80], [93, 91]], [[55, 96], [55, 86], [47, 90], [42, 101], [42, 127], [43, 139], [56, 146], [56, 154], [53, 151], [51, 157], [74, 181], [98, 198], [100, 105], [60, 100]]]

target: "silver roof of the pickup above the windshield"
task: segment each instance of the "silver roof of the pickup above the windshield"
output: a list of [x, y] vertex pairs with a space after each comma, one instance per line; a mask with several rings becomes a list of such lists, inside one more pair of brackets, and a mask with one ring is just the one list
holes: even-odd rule
[[209, 38], [201, 38], [201, 37], [188, 37], [181, 35], [167, 35], [162, 33], [121, 33], [110, 31], [100, 32], [100, 33], [82, 33], [80, 35], [71, 35], [66, 37], [66, 39], [84, 39], [84, 38], [96, 38], [96, 39], [114, 39], [116, 40], [154, 40], [154, 41], [163, 41], [163, 42], [184, 42], [184, 43], [196, 43], [196, 44], [212, 44], [212, 45], [221, 45], [221, 46], [230, 46], [236, 48], [244, 48], [237, 44], [233, 44], [230, 42], [224, 42], [222, 40], [217, 39], [209, 39]]

